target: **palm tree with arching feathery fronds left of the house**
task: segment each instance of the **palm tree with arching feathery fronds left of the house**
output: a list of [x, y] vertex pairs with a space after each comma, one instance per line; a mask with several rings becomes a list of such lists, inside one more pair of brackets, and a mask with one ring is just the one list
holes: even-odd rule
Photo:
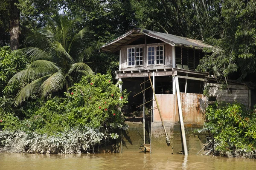
[[91, 45], [89, 29], [77, 30], [80, 21], [79, 17], [69, 20], [56, 14], [54, 19], [48, 19], [46, 28], [32, 31], [26, 37], [31, 47], [22, 50], [33, 62], [9, 81], [9, 84], [14, 81], [30, 82], [15, 97], [17, 105], [33, 94], [45, 97], [63, 88], [69, 93], [69, 87], [79, 76], [93, 74], [83, 59], [103, 44]]

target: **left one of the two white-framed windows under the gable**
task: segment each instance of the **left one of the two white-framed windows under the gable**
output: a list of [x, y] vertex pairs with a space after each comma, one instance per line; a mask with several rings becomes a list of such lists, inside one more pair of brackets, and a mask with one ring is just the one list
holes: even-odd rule
[[143, 47], [127, 48], [128, 67], [143, 65]]

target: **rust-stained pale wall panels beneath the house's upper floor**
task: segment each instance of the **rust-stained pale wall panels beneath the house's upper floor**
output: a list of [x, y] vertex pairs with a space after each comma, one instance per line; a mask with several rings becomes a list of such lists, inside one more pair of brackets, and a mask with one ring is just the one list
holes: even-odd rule
[[[156, 94], [156, 96], [164, 122], [179, 122], [176, 95]], [[180, 93], [180, 98], [184, 123], [204, 124], [207, 97], [203, 94]], [[156, 102], [154, 105], [156, 106]], [[157, 108], [154, 109], [154, 122], [161, 122]]]

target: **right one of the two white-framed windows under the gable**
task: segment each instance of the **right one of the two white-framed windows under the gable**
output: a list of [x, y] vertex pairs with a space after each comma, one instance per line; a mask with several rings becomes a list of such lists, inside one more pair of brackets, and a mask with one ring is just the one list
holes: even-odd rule
[[148, 65], [164, 65], [164, 46], [148, 46]]

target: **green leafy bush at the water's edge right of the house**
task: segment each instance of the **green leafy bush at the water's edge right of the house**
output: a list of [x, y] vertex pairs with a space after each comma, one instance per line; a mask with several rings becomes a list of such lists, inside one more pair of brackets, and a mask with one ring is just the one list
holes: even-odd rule
[[239, 103], [210, 105], [206, 112], [208, 130], [213, 139], [212, 153], [228, 157], [255, 157], [256, 112]]

